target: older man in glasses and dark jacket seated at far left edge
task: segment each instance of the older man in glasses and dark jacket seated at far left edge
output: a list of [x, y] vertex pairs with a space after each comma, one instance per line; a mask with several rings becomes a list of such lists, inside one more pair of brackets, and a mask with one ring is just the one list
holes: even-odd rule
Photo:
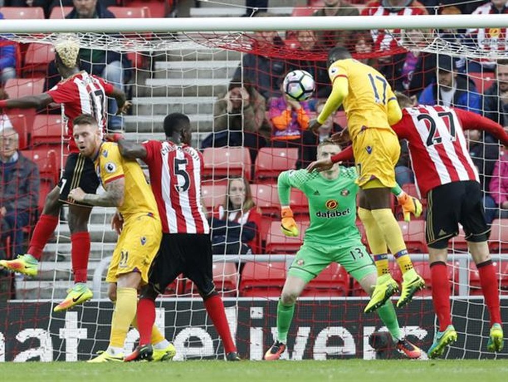
[[24, 253], [23, 227], [37, 213], [39, 169], [18, 151], [13, 128], [0, 131], [0, 234], [11, 237], [12, 252]]

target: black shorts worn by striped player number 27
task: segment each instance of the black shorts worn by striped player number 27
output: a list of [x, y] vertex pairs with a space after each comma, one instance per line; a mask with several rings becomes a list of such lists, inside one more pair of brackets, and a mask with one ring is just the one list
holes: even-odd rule
[[489, 238], [480, 183], [467, 180], [443, 184], [429, 191], [427, 202], [425, 235], [429, 247], [448, 247], [450, 238], [459, 234], [459, 223], [467, 241]]

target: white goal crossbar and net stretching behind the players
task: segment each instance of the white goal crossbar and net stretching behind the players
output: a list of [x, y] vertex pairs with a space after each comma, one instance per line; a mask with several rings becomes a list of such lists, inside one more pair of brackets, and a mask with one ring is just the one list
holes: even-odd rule
[[[309, 224], [306, 199], [294, 190], [291, 204], [300, 237], [282, 236], [277, 176], [283, 170], [304, 168], [314, 160], [317, 144], [347, 126], [339, 109], [319, 135], [306, 130], [330, 93], [326, 55], [331, 47], [346, 46], [355, 58], [377, 68], [392, 88], [415, 102], [449, 104], [508, 125], [508, 82], [502, 82], [508, 78], [507, 37], [505, 21], [498, 17], [502, 15], [454, 16], [450, 14], [456, 10], [436, 7], [425, 10], [431, 14], [426, 16], [416, 7], [399, 10], [404, 14], [399, 17], [381, 17], [374, 7], [354, 5], [351, 14], [363, 16], [308, 17], [315, 10], [294, 9], [293, 17], [261, 13], [251, 18], [125, 22], [118, 13], [116, 20], [31, 20], [26, 25], [5, 20], [0, 24], [2, 51], [12, 52], [13, 58], [13, 71], [5, 77], [4, 98], [39, 94], [57, 83], [60, 77], [52, 44], [63, 33], [72, 33], [80, 41], [81, 68], [123, 88], [133, 103], [128, 115], [115, 117], [109, 100], [109, 129], [121, 129], [133, 141], [162, 140], [167, 114], [189, 116], [193, 146], [202, 150], [205, 161], [202, 197], [212, 225], [215, 285], [224, 298], [239, 353], [251, 360], [262, 359], [273, 342], [277, 298]], [[284, 100], [281, 92], [284, 75], [294, 69], [309, 72], [316, 81], [313, 97], [299, 105], [303, 112], [295, 111], [296, 106]], [[453, 96], [447, 91], [450, 86]], [[8, 134], [8, 124], [17, 136]], [[12, 259], [26, 251], [44, 198], [65, 164], [65, 119], [53, 105], [44, 110], [9, 110], [4, 113], [1, 131], [2, 147], [11, 147], [10, 142], [16, 140], [20, 156], [38, 169], [38, 174], [26, 171], [24, 177], [12, 177], [9, 174], [14, 170], [4, 153], [7, 149], [2, 151], [0, 206], [12, 206], [7, 210], [12, 218], [2, 220], [0, 256]], [[345, 147], [347, 133], [343, 137]], [[504, 148], [479, 132], [468, 136], [468, 144], [481, 173], [492, 224], [489, 245], [501, 291], [501, 317], [506, 322], [508, 214], [501, 208], [506, 203]], [[406, 192], [417, 195], [403, 142], [396, 172]], [[425, 223], [423, 218], [403, 222], [395, 202], [393, 212], [401, 220], [408, 250], [428, 287], [408, 307], [397, 309], [397, 314], [406, 335], [427, 350], [435, 317]], [[0, 361], [86, 360], [107, 347], [113, 305], [107, 299], [105, 274], [116, 242], [110, 228], [113, 213], [112, 208], [97, 207], [90, 217], [88, 285], [94, 297], [84, 305], [68, 312], [52, 311], [73, 284], [66, 207], [44, 249], [36, 277], [0, 271]], [[359, 220], [357, 225], [366, 243]], [[459, 340], [446, 356], [506, 358], [506, 350], [497, 355], [486, 351], [488, 311], [462, 231], [450, 241], [448, 264]], [[393, 261], [391, 269], [400, 281]], [[363, 314], [367, 301], [358, 282], [342, 267], [329, 266], [309, 283], [297, 303], [284, 357], [398, 357], [378, 317]], [[183, 276], [157, 300], [156, 323], [175, 343], [176, 359], [224, 356], [197, 290]], [[126, 352], [137, 338], [132, 329]]]

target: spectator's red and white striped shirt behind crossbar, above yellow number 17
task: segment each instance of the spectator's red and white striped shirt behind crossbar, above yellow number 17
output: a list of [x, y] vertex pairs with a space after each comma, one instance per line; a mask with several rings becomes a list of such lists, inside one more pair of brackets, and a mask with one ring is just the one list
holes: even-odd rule
[[[425, 7], [418, 1], [412, 1], [407, 7], [397, 10], [390, 10], [383, 7], [383, 1], [375, 0], [368, 3], [362, 10], [362, 16], [411, 16], [428, 14]], [[385, 30], [372, 29], [370, 31], [372, 41], [374, 41], [374, 50], [385, 51], [397, 48], [397, 41], [392, 34], [386, 33]], [[394, 29], [393, 35], [400, 36], [400, 29]]]

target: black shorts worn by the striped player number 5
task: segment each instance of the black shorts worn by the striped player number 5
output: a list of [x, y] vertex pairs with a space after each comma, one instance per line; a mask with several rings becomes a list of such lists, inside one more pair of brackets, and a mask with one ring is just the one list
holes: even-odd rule
[[156, 292], [163, 294], [183, 273], [196, 284], [201, 296], [208, 296], [215, 290], [212, 260], [210, 235], [165, 233], [152, 261], [148, 282]]

